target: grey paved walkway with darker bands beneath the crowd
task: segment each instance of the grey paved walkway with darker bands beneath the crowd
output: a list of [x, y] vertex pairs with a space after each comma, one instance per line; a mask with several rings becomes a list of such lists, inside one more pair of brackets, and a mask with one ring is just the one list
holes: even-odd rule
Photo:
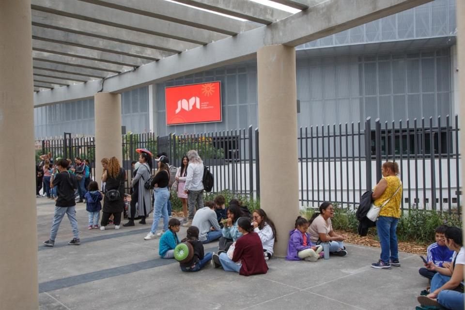
[[[184, 273], [158, 256], [158, 239], [144, 241], [147, 225], [88, 230], [78, 204], [80, 246], [65, 217], [55, 247], [46, 248], [54, 204], [37, 199], [39, 299], [41, 310], [94, 309], [415, 309], [427, 280], [418, 275], [418, 255], [400, 253], [402, 267], [375, 270], [378, 248], [347, 245], [347, 257], [317, 263], [272, 259], [266, 275], [243, 277], [210, 265]], [[109, 226], [113, 227], [113, 226]], [[183, 238], [186, 229], [179, 233]], [[205, 252], [217, 243], [205, 245]]]

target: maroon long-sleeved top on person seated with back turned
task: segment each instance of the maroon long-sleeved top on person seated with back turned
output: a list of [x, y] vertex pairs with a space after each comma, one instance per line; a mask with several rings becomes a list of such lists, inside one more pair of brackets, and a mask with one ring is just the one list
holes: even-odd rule
[[263, 256], [262, 241], [258, 233], [248, 233], [237, 239], [234, 248], [233, 261], [241, 261], [240, 275], [260, 275], [268, 271]]

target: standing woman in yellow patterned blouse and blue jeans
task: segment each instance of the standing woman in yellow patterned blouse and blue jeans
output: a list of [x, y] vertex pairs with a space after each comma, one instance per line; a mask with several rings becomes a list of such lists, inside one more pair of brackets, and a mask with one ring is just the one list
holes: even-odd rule
[[[386, 205], [381, 208], [376, 229], [381, 244], [381, 258], [378, 263], [372, 263], [376, 269], [390, 269], [391, 266], [400, 267], [397, 245], [397, 222], [401, 217], [402, 182], [397, 176], [399, 165], [387, 161], [381, 169], [383, 178], [373, 189], [372, 199], [375, 206]], [[390, 254], [390, 255], [389, 255]]]

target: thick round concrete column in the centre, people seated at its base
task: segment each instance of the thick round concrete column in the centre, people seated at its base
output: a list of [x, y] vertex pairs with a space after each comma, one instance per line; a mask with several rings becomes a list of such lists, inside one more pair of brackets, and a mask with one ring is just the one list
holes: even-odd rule
[[275, 255], [284, 257], [299, 215], [294, 47], [260, 48], [257, 67], [260, 205], [276, 225]]

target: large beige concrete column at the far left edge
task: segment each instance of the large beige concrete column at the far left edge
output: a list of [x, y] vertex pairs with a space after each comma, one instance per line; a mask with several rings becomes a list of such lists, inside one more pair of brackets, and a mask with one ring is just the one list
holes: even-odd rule
[[38, 309], [31, 1], [0, 4], [1, 309]]

